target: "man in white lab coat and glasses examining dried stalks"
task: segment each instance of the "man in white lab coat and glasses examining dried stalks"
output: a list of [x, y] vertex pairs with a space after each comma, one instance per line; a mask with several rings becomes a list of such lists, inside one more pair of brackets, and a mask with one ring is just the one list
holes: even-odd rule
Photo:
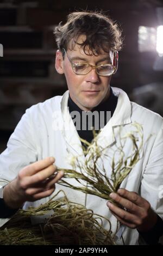
[[[111, 76], [117, 70], [121, 32], [116, 23], [100, 13], [77, 12], [68, 16], [65, 25], [60, 23], [54, 33], [59, 48], [55, 69], [65, 75], [68, 91], [27, 109], [9, 139], [8, 148], [1, 154], [1, 224], [8, 220], [4, 217], [9, 217], [22, 205], [27, 208], [47, 202], [55, 184], [64, 175], [61, 171], [53, 176], [57, 167], [71, 168], [67, 161], [69, 154], [78, 156], [79, 162], [84, 164], [88, 156], [84, 155], [79, 137], [91, 142], [92, 131], [75, 129], [71, 113], [110, 111], [111, 119], [104, 117], [104, 129], [100, 132], [102, 145], [106, 143], [114, 149], [118, 143], [114, 137], [116, 131], [121, 126], [129, 132], [134, 121], [142, 125], [147, 141], [143, 145], [142, 159], [124, 179], [122, 188], [110, 195], [123, 208], [58, 184], [56, 190], [62, 188], [71, 201], [86, 202], [87, 209], [110, 218], [113, 231], [116, 218], [120, 220], [123, 224], [117, 235], [120, 243], [123, 236], [125, 244], [135, 245], [139, 234], [148, 243], [156, 243], [162, 232], [158, 226], [161, 227], [160, 217], [163, 216], [159, 198], [163, 181], [163, 120], [158, 114], [130, 102], [121, 89], [110, 87]], [[57, 122], [62, 129], [54, 129]], [[151, 134], [153, 136], [147, 140]], [[126, 154], [130, 147], [128, 144]], [[109, 158], [103, 157], [103, 164], [111, 175]], [[79, 185], [76, 180], [71, 182]]]

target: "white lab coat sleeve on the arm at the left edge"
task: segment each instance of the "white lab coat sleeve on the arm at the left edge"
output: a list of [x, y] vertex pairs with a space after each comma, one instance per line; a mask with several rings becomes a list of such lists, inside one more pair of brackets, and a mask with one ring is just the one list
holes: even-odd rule
[[[7, 149], [0, 155], [0, 187], [14, 180], [23, 167], [37, 161], [36, 134], [30, 112], [29, 108], [22, 116], [9, 138]], [[8, 220], [1, 218], [0, 227]]]

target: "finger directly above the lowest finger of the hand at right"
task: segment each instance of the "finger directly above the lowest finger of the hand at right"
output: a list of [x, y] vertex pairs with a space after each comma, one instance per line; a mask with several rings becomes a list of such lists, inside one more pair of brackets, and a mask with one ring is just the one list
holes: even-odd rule
[[141, 208], [134, 204], [133, 202], [129, 201], [126, 198], [120, 197], [117, 193], [111, 193], [110, 198], [114, 199], [115, 202], [122, 205], [123, 208], [126, 208], [129, 212], [140, 212]]

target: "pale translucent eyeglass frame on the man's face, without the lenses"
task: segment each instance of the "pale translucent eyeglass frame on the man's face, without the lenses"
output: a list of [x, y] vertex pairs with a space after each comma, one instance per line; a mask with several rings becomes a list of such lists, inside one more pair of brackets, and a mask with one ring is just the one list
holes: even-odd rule
[[[69, 62], [70, 62], [70, 64], [71, 64], [71, 66], [72, 66], [72, 70], [73, 70], [74, 74], [76, 74], [76, 75], [85, 76], [85, 75], [89, 74], [89, 72], [91, 72], [92, 69], [96, 69], [96, 73], [97, 73], [99, 76], [111, 76], [111, 75], [114, 75], [114, 74], [116, 73], [116, 71], [117, 71], [117, 54], [118, 54], [117, 51], [114, 52], [114, 58], [116, 58], [116, 66], [115, 66], [115, 65], [112, 65], [112, 64], [101, 64], [101, 65], [96, 65], [96, 66], [94, 66], [94, 65], [92, 65], [92, 64], [90, 64], [90, 63], [87, 63], [87, 62], [78, 62], [78, 63], [83, 63], [83, 64], [89, 65], [89, 66], [91, 67], [91, 70], [88, 71], [86, 74], [77, 74], [77, 73], [74, 71], [74, 68], [75, 68], [75, 66], [76, 66], [77, 63], [73, 63], [73, 62], [72, 62], [72, 60], [71, 60], [71, 58], [68, 56], [68, 54], [67, 54], [65, 48], [62, 48], [62, 50], [64, 50], [64, 52], [66, 53], [66, 56], [67, 56], [67, 58], [68, 58], [68, 60], [69, 60]], [[61, 50], [61, 52], [62, 52], [62, 50]], [[116, 54], [115, 54], [115, 53], [116, 53]], [[112, 72], [112, 74], [110, 74], [110, 75], [101, 75], [101, 74], [99, 74], [99, 73], [97, 72], [98, 66], [106, 66], [106, 65], [108, 65], [108, 66], [113, 66], [113, 67], [114, 67], [114, 71]]]

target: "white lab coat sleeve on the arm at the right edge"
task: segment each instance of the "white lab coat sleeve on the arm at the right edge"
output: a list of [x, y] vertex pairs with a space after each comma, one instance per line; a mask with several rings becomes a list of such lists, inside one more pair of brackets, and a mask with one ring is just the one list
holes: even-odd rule
[[155, 138], [141, 182], [141, 196], [163, 218], [163, 125]]

